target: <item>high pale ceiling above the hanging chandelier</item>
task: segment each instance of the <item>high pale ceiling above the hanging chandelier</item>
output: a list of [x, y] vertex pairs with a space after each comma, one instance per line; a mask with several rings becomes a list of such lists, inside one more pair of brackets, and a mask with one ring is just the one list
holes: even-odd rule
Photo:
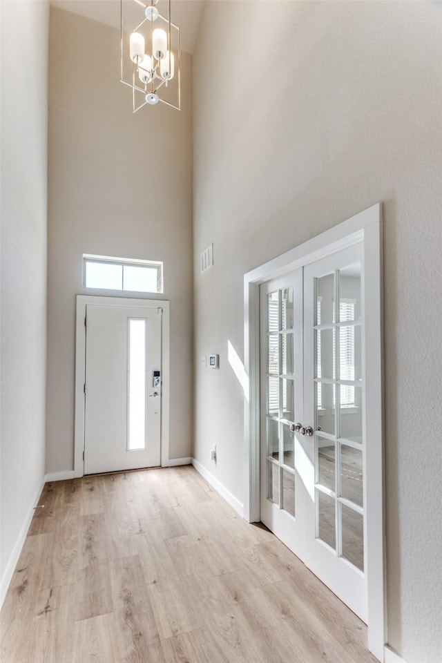
[[[135, 6], [134, 0], [124, 0], [124, 3], [127, 11]], [[160, 0], [158, 3], [159, 8], [162, 3], [164, 0]], [[119, 28], [119, 0], [50, 0], [50, 4], [93, 19], [93, 21]], [[180, 26], [181, 48], [188, 53], [193, 53], [195, 47], [202, 6], [203, 0], [172, 0], [171, 2], [171, 19], [173, 23]], [[164, 12], [162, 9], [160, 11]]]

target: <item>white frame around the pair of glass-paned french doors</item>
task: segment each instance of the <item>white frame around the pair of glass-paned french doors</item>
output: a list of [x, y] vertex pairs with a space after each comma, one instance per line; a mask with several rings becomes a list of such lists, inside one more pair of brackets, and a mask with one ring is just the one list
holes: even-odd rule
[[[368, 648], [380, 661], [385, 646], [383, 503], [383, 291], [381, 204], [283, 253], [244, 275], [244, 369], [249, 390], [244, 398], [244, 518], [260, 520], [260, 284], [305, 267], [330, 253], [362, 242], [365, 347], [365, 482], [366, 559], [369, 574]], [[364, 422], [364, 425], [365, 425]]]

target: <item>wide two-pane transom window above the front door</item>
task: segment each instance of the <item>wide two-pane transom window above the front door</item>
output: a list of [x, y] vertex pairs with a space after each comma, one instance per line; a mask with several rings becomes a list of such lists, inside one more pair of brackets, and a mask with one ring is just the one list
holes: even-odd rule
[[83, 254], [84, 287], [99, 290], [162, 292], [163, 263]]

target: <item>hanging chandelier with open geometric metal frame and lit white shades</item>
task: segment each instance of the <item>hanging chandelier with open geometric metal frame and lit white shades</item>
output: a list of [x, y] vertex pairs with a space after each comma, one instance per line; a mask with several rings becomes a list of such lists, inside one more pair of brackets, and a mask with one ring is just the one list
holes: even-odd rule
[[179, 111], [180, 28], [171, 21], [171, 0], [120, 0], [120, 10], [120, 81], [132, 88], [133, 113], [158, 102]]

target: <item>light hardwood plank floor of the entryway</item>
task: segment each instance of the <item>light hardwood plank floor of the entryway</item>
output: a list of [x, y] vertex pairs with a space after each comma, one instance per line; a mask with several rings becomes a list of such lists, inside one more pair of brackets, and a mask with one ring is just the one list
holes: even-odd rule
[[47, 483], [1, 663], [375, 663], [366, 627], [193, 468]]

